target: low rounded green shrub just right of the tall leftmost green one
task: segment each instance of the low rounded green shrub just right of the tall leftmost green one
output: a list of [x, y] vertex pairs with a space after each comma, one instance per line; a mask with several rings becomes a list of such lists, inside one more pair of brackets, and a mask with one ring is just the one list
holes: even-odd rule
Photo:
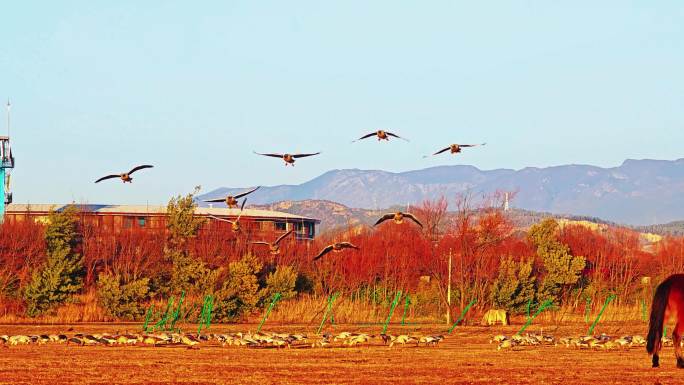
[[141, 303], [149, 299], [149, 281], [149, 278], [141, 278], [123, 282], [118, 274], [101, 274], [97, 281], [100, 305], [112, 317], [133, 321], [145, 312]]

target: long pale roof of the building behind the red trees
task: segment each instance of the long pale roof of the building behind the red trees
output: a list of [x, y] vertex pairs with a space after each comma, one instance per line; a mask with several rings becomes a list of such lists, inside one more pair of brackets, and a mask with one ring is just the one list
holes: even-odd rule
[[[26, 203], [12, 203], [7, 205], [5, 212], [8, 214], [12, 213], [25, 213], [25, 212], [37, 212], [37, 213], [47, 213], [50, 210], [61, 211], [69, 205], [65, 204], [26, 204]], [[166, 206], [159, 205], [98, 205], [98, 204], [77, 204], [80, 210], [93, 212], [97, 214], [153, 214], [153, 215], [163, 215], [166, 213]], [[215, 216], [229, 216], [237, 217], [240, 215], [240, 209], [229, 209], [221, 207], [197, 207], [195, 209], [195, 214], [198, 215], [215, 215]], [[320, 220], [314, 218], [303, 217], [301, 215], [295, 215], [290, 213], [283, 213], [280, 211], [271, 210], [256, 210], [256, 209], [245, 209], [242, 212], [242, 216], [246, 218], [276, 218], [285, 219], [290, 221], [314, 221], [319, 223]]]

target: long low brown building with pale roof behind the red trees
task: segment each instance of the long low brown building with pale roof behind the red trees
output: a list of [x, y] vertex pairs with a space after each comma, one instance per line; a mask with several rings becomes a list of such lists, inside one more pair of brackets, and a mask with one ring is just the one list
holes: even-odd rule
[[[6, 208], [5, 222], [26, 220], [46, 222], [50, 211], [61, 211], [64, 204], [10, 204]], [[126, 229], [164, 229], [166, 226], [166, 206], [140, 205], [97, 205], [75, 204], [83, 224], [100, 230], [118, 232]], [[239, 209], [198, 207], [195, 215], [209, 219], [214, 228], [227, 229], [226, 222], [211, 219], [211, 216], [235, 220]], [[245, 209], [240, 217], [244, 232], [254, 237], [295, 231], [297, 239], [310, 240], [316, 236], [316, 224], [320, 220], [300, 215], [269, 210]], [[223, 226], [221, 224], [224, 224]], [[227, 226], [226, 226], [227, 225]]]

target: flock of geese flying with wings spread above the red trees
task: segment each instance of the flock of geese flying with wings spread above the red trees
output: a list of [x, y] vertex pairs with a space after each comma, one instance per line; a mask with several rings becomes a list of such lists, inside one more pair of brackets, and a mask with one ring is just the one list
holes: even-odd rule
[[[359, 141], [359, 140], [368, 139], [368, 138], [371, 138], [371, 137], [377, 137], [377, 138], [378, 138], [378, 141], [382, 141], [382, 140], [389, 141], [390, 137], [392, 137], [392, 138], [398, 138], [398, 139], [402, 139], [402, 140], [408, 141], [407, 139], [405, 139], [405, 138], [403, 138], [403, 137], [400, 137], [399, 135], [394, 134], [394, 133], [392, 133], [392, 132], [385, 131], [385, 130], [378, 130], [378, 131], [375, 131], [375, 132], [371, 132], [371, 133], [369, 133], [369, 134], [366, 134], [366, 135], [360, 137], [359, 139], [354, 140], [352, 143], [357, 142], [357, 141]], [[486, 144], [486, 143], [480, 143], [480, 144], [450, 144], [449, 146], [447, 146], [447, 147], [445, 147], [445, 148], [443, 148], [443, 149], [441, 149], [441, 150], [435, 152], [435, 153], [432, 154], [432, 155], [433, 155], [433, 156], [434, 156], [434, 155], [439, 155], [439, 154], [441, 154], [441, 153], [443, 153], [443, 152], [446, 152], [446, 151], [450, 151], [451, 154], [458, 154], [458, 153], [460, 153], [460, 152], [462, 151], [463, 148], [482, 146], [482, 145], [485, 145], [485, 144]], [[305, 158], [305, 157], [310, 157], [310, 156], [315, 156], [315, 155], [319, 155], [319, 154], [320, 154], [320, 152], [308, 153], [308, 154], [287, 154], [287, 153], [285, 153], [285, 154], [279, 154], [279, 153], [259, 153], [259, 152], [256, 152], [256, 151], [255, 151], [254, 153], [257, 154], [257, 155], [262, 155], [262, 156], [267, 156], [267, 157], [280, 158], [280, 159], [282, 159], [282, 160], [285, 162], [285, 166], [288, 166], [288, 165], [294, 166], [294, 163], [295, 163], [295, 160], [296, 160], [296, 159]], [[424, 156], [424, 157], [427, 157], [427, 156], [428, 156], [428, 155], [426, 155], [426, 156]], [[144, 165], [136, 166], [136, 167], [134, 167], [133, 169], [131, 169], [131, 170], [128, 171], [128, 172], [124, 172], [124, 173], [120, 173], [120, 174], [110, 174], [110, 175], [103, 176], [102, 178], [96, 180], [95, 183], [99, 183], [99, 182], [101, 182], [101, 181], [103, 181], [103, 180], [115, 179], [115, 178], [121, 179], [121, 180], [123, 181], [123, 183], [132, 183], [132, 182], [133, 182], [133, 178], [131, 177], [131, 174], [133, 174], [133, 173], [136, 172], [136, 171], [143, 170], [143, 169], [146, 169], [146, 168], [152, 168], [152, 167], [154, 167], [154, 166], [149, 165], [149, 164], [144, 164]], [[204, 200], [204, 202], [208, 202], [208, 203], [222, 202], [222, 203], [225, 203], [229, 208], [237, 208], [237, 207], [238, 207], [238, 203], [239, 203], [238, 200], [241, 199], [241, 198], [244, 198], [243, 201], [242, 201], [242, 205], [241, 205], [241, 207], [240, 207], [240, 214], [238, 215], [238, 217], [237, 217], [234, 221], [229, 220], [229, 219], [226, 219], [226, 218], [219, 218], [219, 217], [216, 217], [216, 216], [213, 216], [213, 215], [210, 215], [209, 217], [212, 218], [212, 219], [214, 219], [214, 220], [224, 221], [224, 222], [230, 223], [230, 225], [231, 225], [231, 230], [232, 230], [233, 232], [235, 232], [235, 233], [239, 233], [239, 232], [241, 231], [241, 227], [240, 227], [240, 218], [242, 217], [242, 213], [243, 213], [244, 208], [245, 208], [245, 203], [247, 202], [246, 196], [249, 195], [249, 194], [251, 194], [251, 193], [253, 193], [253, 192], [255, 192], [256, 190], [258, 190], [259, 187], [261, 187], [261, 186], [257, 186], [257, 187], [255, 187], [255, 188], [249, 190], [249, 191], [245, 191], [245, 192], [240, 193], [240, 194], [237, 194], [237, 195], [228, 195], [228, 196], [226, 196], [226, 197], [221, 197], [221, 198], [215, 198], [215, 199]], [[411, 213], [407, 213], [407, 212], [402, 212], [402, 211], [397, 211], [397, 212], [394, 212], [394, 213], [388, 213], [388, 214], [383, 215], [382, 217], [380, 217], [380, 218], [375, 222], [375, 225], [374, 225], [374, 226], [378, 226], [378, 225], [380, 225], [381, 223], [383, 223], [383, 222], [385, 222], [385, 221], [388, 221], [388, 220], [392, 220], [395, 224], [401, 224], [401, 223], [404, 222], [404, 219], [410, 219], [410, 220], [413, 221], [416, 225], [420, 226], [421, 228], [423, 227], [423, 224], [418, 220], [418, 218], [416, 218], [415, 215], [413, 215], [413, 214], [411, 214]], [[284, 238], [286, 238], [286, 237], [287, 237], [288, 235], [290, 235], [290, 233], [292, 233], [292, 232], [293, 232], [293, 230], [290, 230], [290, 231], [288, 231], [288, 232], [282, 234], [280, 237], [278, 237], [278, 238], [277, 238], [275, 241], [273, 241], [273, 242], [255, 241], [255, 242], [252, 242], [252, 244], [254, 244], [254, 245], [265, 245], [265, 246], [268, 247], [269, 252], [270, 252], [271, 255], [277, 255], [277, 254], [280, 253], [280, 246], [279, 246], [280, 241], [282, 241]], [[357, 246], [353, 245], [353, 244], [350, 243], [350, 242], [335, 242], [335, 243], [333, 243], [333, 244], [331, 244], [331, 245], [326, 246], [323, 250], [321, 250], [321, 252], [320, 252], [318, 255], [316, 255], [315, 257], [313, 257], [312, 260], [313, 260], [313, 261], [317, 261], [317, 260], [321, 259], [323, 256], [325, 256], [326, 254], [328, 254], [328, 253], [330, 253], [330, 252], [340, 253], [340, 252], [344, 251], [345, 249], [359, 250], [359, 248], [358, 248]]]

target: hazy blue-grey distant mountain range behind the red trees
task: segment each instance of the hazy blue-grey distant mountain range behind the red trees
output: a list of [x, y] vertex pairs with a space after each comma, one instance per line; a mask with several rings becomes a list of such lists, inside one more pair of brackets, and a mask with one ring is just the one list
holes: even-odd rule
[[[236, 194], [247, 187], [219, 188], [198, 199]], [[567, 165], [479, 170], [456, 165], [401, 173], [333, 170], [300, 185], [264, 186], [250, 195], [249, 203], [318, 200], [376, 211], [440, 196], [451, 199], [463, 192], [481, 196], [502, 190], [516, 191], [511, 206], [524, 210], [598, 217], [628, 225], [673, 222], [684, 218], [684, 159], [629, 159], [611, 168]], [[293, 203], [279, 203], [287, 204]]]

